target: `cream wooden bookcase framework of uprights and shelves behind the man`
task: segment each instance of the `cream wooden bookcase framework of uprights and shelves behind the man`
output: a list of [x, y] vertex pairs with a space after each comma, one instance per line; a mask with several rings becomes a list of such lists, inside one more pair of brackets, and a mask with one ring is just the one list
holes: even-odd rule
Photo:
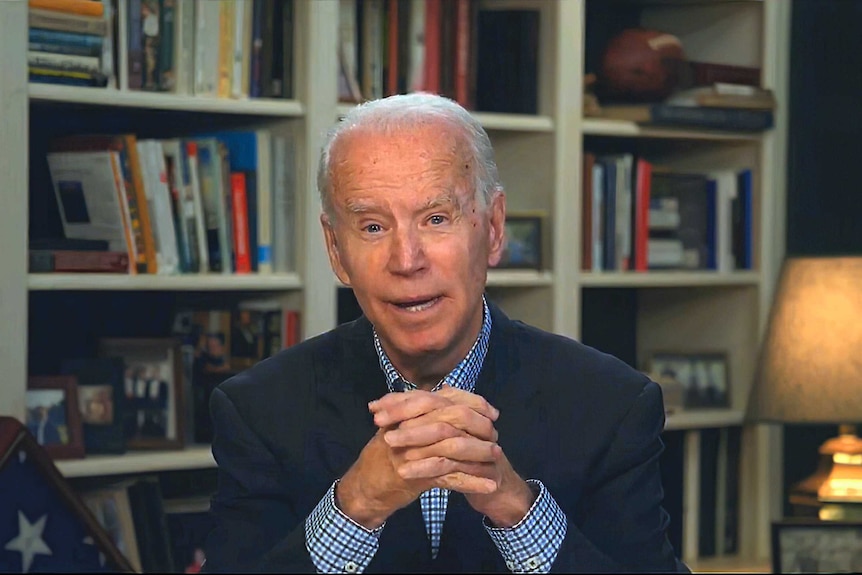
[[[487, 0], [485, 0], [487, 1]], [[638, 353], [654, 349], [724, 346], [731, 355], [733, 404], [726, 410], [680, 412], [668, 430], [696, 433], [744, 424], [756, 351], [783, 256], [784, 161], [790, 2], [786, 0], [631, 0], [645, 21], [667, 23], [692, 56], [761, 66], [779, 108], [775, 129], [765, 134], [649, 128], [631, 122], [583, 118], [586, 2], [607, 0], [505, 0], [541, 12], [539, 113], [535, 116], [476, 112], [489, 131], [511, 212], [547, 214], [546, 269], [494, 269], [492, 298], [507, 313], [539, 327], [580, 338], [582, 300], [588, 290], [629, 289], [638, 294]], [[614, 0], [621, 6], [631, 2]], [[295, 99], [230, 100], [123, 90], [75, 88], [27, 82], [26, 0], [0, 1], [0, 413], [23, 418], [28, 356], [30, 292], [278, 292], [296, 301], [306, 337], [333, 327], [335, 289], [318, 223], [317, 152], [332, 121], [349, 107], [337, 101], [338, 2], [297, 0]], [[714, 17], [713, 17], [714, 16]], [[718, 16], [721, 16], [719, 18]], [[691, 22], [698, 25], [691, 29]], [[728, 27], [727, 23], [733, 25]], [[688, 27], [687, 27], [688, 26]], [[231, 117], [234, 124], [272, 126], [296, 136], [297, 271], [275, 275], [125, 276], [28, 274], [28, 163], [33, 106], [181, 112]], [[36, 108], [41, 109], [41, 108]], [[595, 139], [632, 142], [680, 167], [751, 164], [757, 172], [755, 269], [732, 273], [592, 273], [580, 266], [581, 159]], [[54, 297], [54, 296], [52, 296]], [[746, 425], [740, 495], [740, 557], [763, 561], [769, 554], [769, 521], [780, 509], [773, 432]], [[58, 462], [70, 477], [212, 467], [206, 447], [175, 452], [133, 452]], [[689, 529], [691, 527], [689, 526]], [[689, 558], [690, 559], [690, 558]], [[729, 560], [712, 565], [740, 565]], [[746, 563], [747, 564], [747, 563]], [[752, 563], [754, 564], [754, 563]], [[704, 564], [707, 565], [707, 564]]]

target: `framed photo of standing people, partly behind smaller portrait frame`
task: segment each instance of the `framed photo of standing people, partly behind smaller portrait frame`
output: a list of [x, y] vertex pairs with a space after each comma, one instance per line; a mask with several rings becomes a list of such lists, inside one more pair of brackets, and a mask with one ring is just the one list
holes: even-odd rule
[[183, 367], [173, 338], [106, 338], [100, 357], [123, 360], [123, 433], [129, 449], [181, 449]]

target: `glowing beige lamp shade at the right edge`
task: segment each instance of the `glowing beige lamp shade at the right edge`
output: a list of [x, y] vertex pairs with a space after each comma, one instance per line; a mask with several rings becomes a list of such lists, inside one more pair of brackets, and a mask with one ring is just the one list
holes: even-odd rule
[[748, 417], [862, 421], [862, 257], [785, 261]]

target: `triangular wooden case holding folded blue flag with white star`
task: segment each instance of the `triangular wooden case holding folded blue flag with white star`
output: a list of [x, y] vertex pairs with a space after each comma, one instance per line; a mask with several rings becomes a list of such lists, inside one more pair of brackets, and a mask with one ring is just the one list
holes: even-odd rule
[[4, 573], [134, 572], [45, 447], [12, 417], [0, 417], [0, 517]]

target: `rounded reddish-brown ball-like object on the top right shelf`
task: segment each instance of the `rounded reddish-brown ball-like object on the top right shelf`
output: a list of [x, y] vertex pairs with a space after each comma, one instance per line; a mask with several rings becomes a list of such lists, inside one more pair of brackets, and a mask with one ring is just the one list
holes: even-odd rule
[[685, 51], [679, 38], [651, 28], [627, 28], [602, 55], [601, 97], [618, 102], [658, 102], [677, 88]]

